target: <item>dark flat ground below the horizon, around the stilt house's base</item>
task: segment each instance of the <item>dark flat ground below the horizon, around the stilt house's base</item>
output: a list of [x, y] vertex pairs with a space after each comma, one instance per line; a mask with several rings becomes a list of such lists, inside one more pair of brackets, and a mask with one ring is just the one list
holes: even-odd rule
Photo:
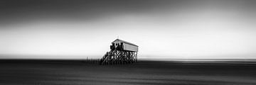
[[255, 85], [255, 69], [256, 64], [230, 63], [1, 60], [0, 85]]

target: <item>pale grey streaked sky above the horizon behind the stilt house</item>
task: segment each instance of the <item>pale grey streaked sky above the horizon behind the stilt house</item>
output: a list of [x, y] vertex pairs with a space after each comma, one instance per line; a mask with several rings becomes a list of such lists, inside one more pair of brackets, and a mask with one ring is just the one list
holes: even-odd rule
[[139, 58], [256, 58], [253, 0], [9, 0], [0, 10], [0, 58], [100, 58], [117, 35]]

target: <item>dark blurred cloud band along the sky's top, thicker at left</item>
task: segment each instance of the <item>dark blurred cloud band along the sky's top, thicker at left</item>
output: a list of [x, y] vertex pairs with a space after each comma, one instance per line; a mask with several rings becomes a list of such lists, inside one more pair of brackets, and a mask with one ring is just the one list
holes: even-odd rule
[[[213, 4], [213, 7], [210, 5]], [[218, 7], [219, 6], [219, 7]], [[193, 8], [255, 8], [255, 1], [191, 1], [191, 0], [1, 0], [1, 25], [46, 19], [92, 21], [120, 13], [164, 12]], [[208, 9], [208, 10], [209, 10]], [[243, 10], [243, 9], [242, 9]], [[253, 10], [253, 9], [252, 9]]]

